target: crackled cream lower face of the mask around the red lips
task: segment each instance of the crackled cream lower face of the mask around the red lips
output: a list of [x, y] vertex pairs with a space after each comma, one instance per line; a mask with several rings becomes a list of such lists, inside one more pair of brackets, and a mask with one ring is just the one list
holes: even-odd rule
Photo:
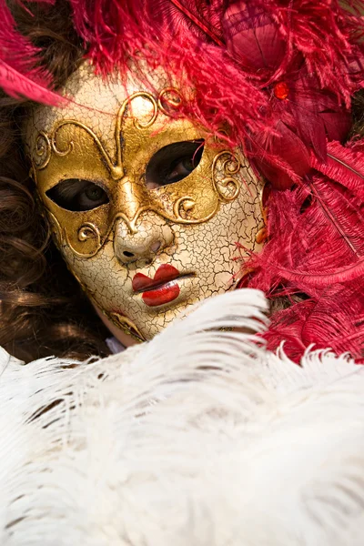
[[[95, 258], [75, 258], [67, 248], [64, 253], [98, 307], [114, 321], [110, 313], [125, 314], [143, 337], [150, 339], [187, 306], [234, 288], [234, 275], [242, 266], [241, 260], [234, 258], [244, 257], [236, 242], [257, 249], [255, 238], [260, 222], [257, 194], [242, 192], [233, 203], [221, 205], [217, 215], [204, 224], [180, 226], [147, 213], [139, 218], [137, 236], [128, 235], [123, 221], [117, 222], [113, 237]], [[165, 245], [157, 254], [151, 251], [155, 241]], [[145, 246], [145, 257], [128, 265], [120, 263], [118, 248], [133, 250], [136, 244]], [[148, 308], [142, 294], [134, 294], [132, 280], [136, 273], [154, 278], [162, 264], [174, 266], [181, 274], [194, 273], [195, 277], [178, 281], [180, 293], [173, 302]]]

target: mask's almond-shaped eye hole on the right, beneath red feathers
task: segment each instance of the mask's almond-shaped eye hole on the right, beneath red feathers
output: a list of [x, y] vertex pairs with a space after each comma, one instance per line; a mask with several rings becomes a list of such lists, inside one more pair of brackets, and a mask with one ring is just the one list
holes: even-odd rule
[[147, 188], [157, 189], [188, 177], [201, 161], [204, 145], [204, 140], [187, 140], [158, 150], [147, 165]]

